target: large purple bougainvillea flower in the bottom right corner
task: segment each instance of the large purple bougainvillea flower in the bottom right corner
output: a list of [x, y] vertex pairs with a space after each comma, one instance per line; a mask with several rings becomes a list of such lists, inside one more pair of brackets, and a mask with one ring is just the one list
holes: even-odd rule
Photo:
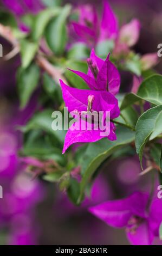
[[149, 196], [135, 192], [126, 199], [108, 201], [89, 211], [115, 228], [126, 228], [128, 240], [133, 245], [151, 245], [159, 235], [162, 221], [162, 200], [153, 199], [147, 211]]

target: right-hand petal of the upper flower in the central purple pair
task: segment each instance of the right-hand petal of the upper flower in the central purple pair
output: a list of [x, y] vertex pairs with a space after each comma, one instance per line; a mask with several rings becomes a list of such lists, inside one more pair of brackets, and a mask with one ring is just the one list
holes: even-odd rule
[[113, 95], [119, 92], [120, 74], [114, 64], [109, 61], [109, 55], [99, 71], [96, 82], [100, 90], [108, 90]]

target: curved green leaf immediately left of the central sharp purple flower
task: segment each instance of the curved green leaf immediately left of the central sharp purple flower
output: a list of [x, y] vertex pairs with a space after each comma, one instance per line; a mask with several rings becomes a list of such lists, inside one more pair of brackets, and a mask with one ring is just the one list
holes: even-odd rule
[[[21, 130], [23, 132], [28, 132], [30, 130], [38, 130], [41, 129], [46, 131], [50, 135], [54, 136], [57, 141], [62, 145], [64, 142], [64, 136], [66, 131], [57, 130], [54, 131], [51, 127], [53, 118], [51, 118], [51, 114], [53, 113], [52, 109], [45, 109], [42, 112], [36, 113], [27, 123], [27, 125], [23, 126]], [[60, 129], [63, 127], [60, 127]]]

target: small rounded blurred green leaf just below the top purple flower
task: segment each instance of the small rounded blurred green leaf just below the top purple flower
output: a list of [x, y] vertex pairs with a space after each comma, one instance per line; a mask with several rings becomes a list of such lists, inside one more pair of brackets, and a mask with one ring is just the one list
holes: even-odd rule
[[89, 49], [82, 42], [74, 44], [67, 53], [68, 59], [86, 59], [90, 54]]

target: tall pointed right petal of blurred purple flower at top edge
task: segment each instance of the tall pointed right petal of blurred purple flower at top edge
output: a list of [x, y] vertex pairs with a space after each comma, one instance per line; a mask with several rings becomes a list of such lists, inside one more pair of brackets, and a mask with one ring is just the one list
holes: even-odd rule
[[118, 21], [110, 8], [108, 2], [104, 0], [103, 16], [101, 21], [101, 33], [99, 41], [114, 39], [118, 34]]

